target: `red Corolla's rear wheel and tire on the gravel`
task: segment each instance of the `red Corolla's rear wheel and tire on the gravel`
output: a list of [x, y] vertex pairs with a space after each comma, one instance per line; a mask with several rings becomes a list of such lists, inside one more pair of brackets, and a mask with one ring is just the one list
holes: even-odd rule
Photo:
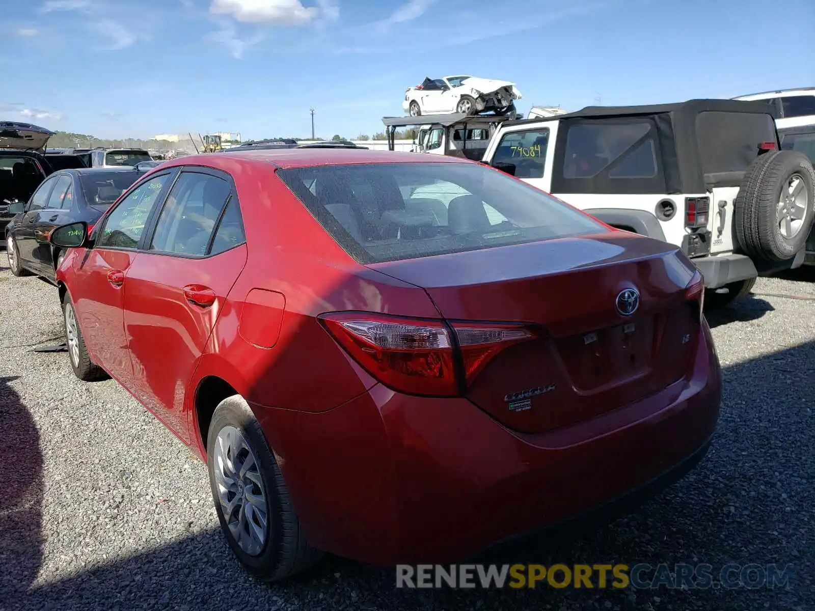
[[[238, 478], [229, 476], [240, 468], [230, 464], [240, 460], [245, 466], [249, 459], [257, 468], [249, 467], [247, 476], [235, 483]], [[275, 455], [249, 404], [240, 395], [224, 399], [215, 408], [207, 434], [207, 464], [221, 530], [232, 553], [250, 574], [263, 581], [280, 581], [310, 568], [323, 557], [323, 552], [306, 541]], [[250, 489], [254, 503], [245, 500]], [[228, 517], [225, 504], [233, 505]], [[260, 528], [258, 534], [250, 525], [262, 523], [262, 510], [253, 509], [245, 527], [240, 525], [240, 516], [246, 519], [248, 515], [245, 507], [261, 506], [266, 508], [265, 530]], [[257, 538], [247, 536], [249, 530], [258, 534]]]

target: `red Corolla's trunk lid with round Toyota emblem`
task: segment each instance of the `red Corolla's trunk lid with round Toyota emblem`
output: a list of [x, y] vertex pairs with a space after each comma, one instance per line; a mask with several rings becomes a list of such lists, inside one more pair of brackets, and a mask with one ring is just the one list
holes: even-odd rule
[[[692, 264], [671, 244], [623, 232], [372, 267], [425, 288], [449, 321], [538, 329], [467, 389], [518, 431], [572, 424], [664, 389], [689, 371], [698, 341], [698, 302], [685, 300]], [[616, 302], [628, 288], [640, 301], [626, 316]]]

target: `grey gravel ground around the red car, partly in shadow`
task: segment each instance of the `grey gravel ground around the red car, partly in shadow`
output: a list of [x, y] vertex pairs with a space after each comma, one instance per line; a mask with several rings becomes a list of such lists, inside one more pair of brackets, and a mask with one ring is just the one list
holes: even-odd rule
[[115, 382], [76, 380], [55, 289], [0, 259], [0, 609], [815, 609], [815, 270], [761, 279], [709, 319], [725, 368], [710, 454], [639, 511], [527, 560], [793, 565], [782, 590], [395, 590], [329, 557], [253, 581], [218, 530], [206, 470]]

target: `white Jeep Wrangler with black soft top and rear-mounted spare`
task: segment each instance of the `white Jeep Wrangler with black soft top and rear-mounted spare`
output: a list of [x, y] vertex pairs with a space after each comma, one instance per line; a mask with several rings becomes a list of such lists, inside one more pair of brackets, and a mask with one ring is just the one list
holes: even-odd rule
[[714, 306], [804, 262], [815, 172], [779, 149], [769, 104], [698, 99], [508, 121], [482, 163], [681, 247]]

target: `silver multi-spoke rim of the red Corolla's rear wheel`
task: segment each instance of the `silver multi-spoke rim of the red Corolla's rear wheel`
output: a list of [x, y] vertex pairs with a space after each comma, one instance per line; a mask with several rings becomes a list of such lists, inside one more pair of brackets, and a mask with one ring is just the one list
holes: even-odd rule
[[218, 432], [214, 474], [224, 521], [241, 550], [258, 556], [269, 536], [269, 502], [260, 464], [234, 426]]

